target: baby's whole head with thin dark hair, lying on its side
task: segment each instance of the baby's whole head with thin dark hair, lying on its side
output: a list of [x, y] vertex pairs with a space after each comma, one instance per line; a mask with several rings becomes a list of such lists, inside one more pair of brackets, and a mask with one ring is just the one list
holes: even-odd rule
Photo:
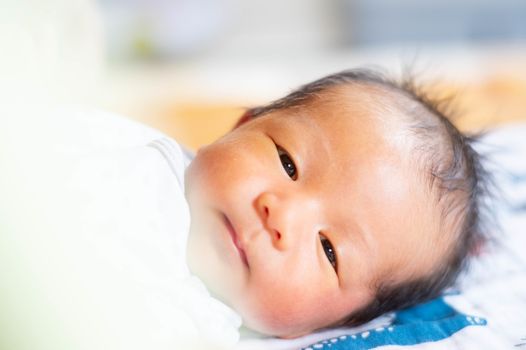
[[190, 268], [263, 333], [366, 322], [453, 283], [480, 237], [480, 169], [406, 85], [322, 78], [197, 153]]

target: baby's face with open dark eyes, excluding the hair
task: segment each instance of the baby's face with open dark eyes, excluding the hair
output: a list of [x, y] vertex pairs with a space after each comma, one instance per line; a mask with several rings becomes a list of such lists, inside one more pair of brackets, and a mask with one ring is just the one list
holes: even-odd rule
[[255, 118], [188, 169], [190, 268], [260, 332], [334, 324], [376, 281], [434, 264], [421, 248], [434, 214], [403, 128], [345, 94]]

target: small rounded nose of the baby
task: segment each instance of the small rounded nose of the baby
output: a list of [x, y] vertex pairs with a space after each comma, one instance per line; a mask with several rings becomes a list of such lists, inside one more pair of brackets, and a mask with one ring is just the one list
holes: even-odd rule
[[260, 194], [256, 201], [256, 210], [269, 232], [276, 249], [287, 249], [300, 236], [318, 232], [316, 213], [308, 200], [299, 196], [278, 196], [270, 192]]

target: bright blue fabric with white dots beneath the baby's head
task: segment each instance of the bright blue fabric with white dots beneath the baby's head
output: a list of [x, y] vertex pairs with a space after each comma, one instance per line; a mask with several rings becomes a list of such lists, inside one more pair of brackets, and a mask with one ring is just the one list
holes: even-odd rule
[[304, 350], [354, 350], [384, 345], [415, 345], [439, 341], [465, 327], [484, 326], [486, 323], [483, 318], [460, 313], [440, 297], [397, 312], [389, 326], [326, 339]]

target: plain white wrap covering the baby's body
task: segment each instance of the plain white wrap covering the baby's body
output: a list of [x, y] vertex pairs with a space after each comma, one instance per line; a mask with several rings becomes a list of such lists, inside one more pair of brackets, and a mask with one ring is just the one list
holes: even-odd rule
[[34, 172], [47, 188], [33, 204], [45, 215], [28, 215], [39, 227], [16, 238], [14, 258], [33, 272], [29, 299], [50, 311], [32, 314], [27, 330], [56, 333], [34, 349], [232, 347], [239, 316], [186, 266], [189, 160], [180, 146], [111, 115], [64, 113], [37, 152], [52, 154]]

